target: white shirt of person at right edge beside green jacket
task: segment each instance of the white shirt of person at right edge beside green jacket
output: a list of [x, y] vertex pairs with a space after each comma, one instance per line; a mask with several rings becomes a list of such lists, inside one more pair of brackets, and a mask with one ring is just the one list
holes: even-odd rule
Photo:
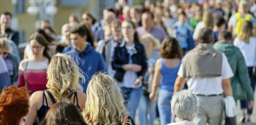
[[234, 40], [234, 45], [242, 52], [247, 67], [256, 65], [255, 52], [256, 52], [256, 37], [249, 38], [249, 44], [239, 40], [238, 37]]

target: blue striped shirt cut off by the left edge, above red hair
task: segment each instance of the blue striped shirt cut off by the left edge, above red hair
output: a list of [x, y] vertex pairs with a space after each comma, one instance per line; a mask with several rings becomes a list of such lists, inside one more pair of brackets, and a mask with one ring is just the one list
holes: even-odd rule
[[0, 92], [2, 92], [2, 90], [5, 87], [8, 87], [10, 85], [11, 85], [11, 82], [10, 82], [10, 76], [8, 73], [8, 69], [5, 65], [5, 61], [0, 56]]

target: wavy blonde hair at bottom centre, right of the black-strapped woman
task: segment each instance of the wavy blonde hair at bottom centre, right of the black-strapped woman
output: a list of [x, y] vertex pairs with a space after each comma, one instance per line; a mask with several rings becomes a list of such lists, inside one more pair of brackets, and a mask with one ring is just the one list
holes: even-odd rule
[[104, 73], [92, 76], [86, 94], [82, 114], [88, 125], [90, 121], [93, 125], [124, 125], [125, 122], [131, 125], [131, 120], [125, 120], [128, 112], [123, 105], [121, 90], [112, 77]]

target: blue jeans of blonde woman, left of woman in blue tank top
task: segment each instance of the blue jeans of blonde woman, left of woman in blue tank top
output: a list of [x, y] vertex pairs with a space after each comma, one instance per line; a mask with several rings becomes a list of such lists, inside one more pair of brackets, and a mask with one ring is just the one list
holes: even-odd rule
[[148, 125], [154, 125], [156, 118], [156, 101], [150, 100], [148, 95], [142, 94], [139, 102], [140, 125], [146, 125], [147, 114], [149, 115]]

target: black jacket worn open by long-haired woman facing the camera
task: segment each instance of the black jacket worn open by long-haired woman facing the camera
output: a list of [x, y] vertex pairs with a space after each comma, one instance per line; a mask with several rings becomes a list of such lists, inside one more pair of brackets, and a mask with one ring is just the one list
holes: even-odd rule
[[[147, 57], [144, 46], [136, 41], [134, 41], [134, 54], [132, 55], [133, 64], [142, 65], [142, 69], [140, 72], [137, 72], [138, 77], [144, 76], [147, 71]], [[118, 82], [123, 82], [123, 76], [125, 74], [125, 70], [123, 70], [123, 65], [129, 63], [129, 53], [125, 48], [125, 41], [118, 43], [115, 47], [113, 60], [112, 60], [112, 67], [115, 70], [114, 78], [118, 80]]]

